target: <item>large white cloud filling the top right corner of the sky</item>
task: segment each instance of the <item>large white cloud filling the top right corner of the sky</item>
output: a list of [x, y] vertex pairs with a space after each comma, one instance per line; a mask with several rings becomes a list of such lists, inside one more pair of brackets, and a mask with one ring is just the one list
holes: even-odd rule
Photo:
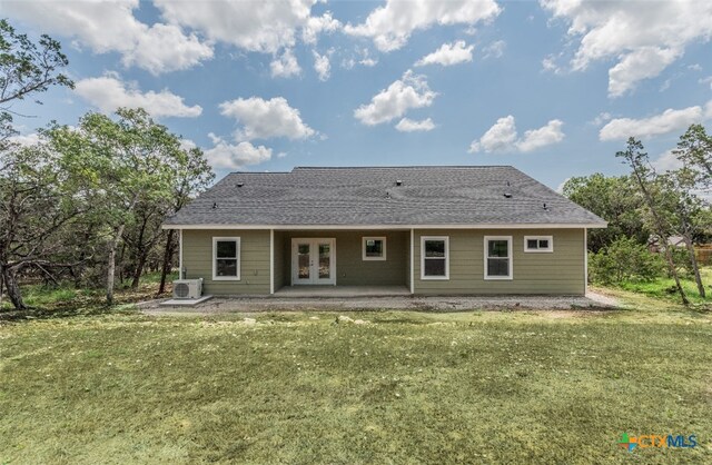
[[619, 97], [643, 79], [659, 76], [688, 44], [712, 36], [712, 2], [541, 0], [580, 39], [571, 60], [583, 70], [597, 60], [617, 59], [609, 71], [609, 95]]

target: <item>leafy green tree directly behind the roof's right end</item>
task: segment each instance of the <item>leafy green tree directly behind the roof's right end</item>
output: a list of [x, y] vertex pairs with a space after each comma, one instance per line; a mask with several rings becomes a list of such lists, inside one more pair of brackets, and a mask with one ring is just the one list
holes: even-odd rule
[[622, 237], [647, 244], [650, 229], [641, 212], [644, 200], [630, 176], [606, 177], [597, 172], [571, 178], [564, 184], [563, 194], [609, 222], [607, 228], [589, 231], [591, 251], [597, 253]]

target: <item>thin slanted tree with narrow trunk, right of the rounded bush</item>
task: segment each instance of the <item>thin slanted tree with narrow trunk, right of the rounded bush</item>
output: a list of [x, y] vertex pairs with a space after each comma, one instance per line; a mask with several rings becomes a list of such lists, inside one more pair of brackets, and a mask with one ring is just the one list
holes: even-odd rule
[[668, 261], [668, 269], [675, 280], [675, 287], [678, 288], [682, 303], [688, 305], [688, 296], [680, 284], [680, 276], [678, 275], [671, 247], [666, 244], [668, 238], [672, 235], [672, 227], [661, 211], [660, 199], [655, 197], [655, 172], [650, 168], [650, 159], [643, 150], [643, 144], [631, 137], [627, 140], [626, 149], [616, 152], [615, 156], [623, 158], [633, 170], [632, 177], [635, 179], [643, 195], [645, 206], [651, 216], [652, 227], [660, 240], [664, 243], [663, 251], [665, 254], [665, 260]]

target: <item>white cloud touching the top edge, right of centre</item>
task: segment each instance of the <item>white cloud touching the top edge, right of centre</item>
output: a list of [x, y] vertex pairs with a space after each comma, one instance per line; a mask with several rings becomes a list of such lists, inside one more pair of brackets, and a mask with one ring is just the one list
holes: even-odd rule
[[362, 24], [346, 24], [352, 36], [368, 37], [378, 50], [402, 48], [411, 34], [434, 24], [475, 24], [494, 19], [502, 9], [494, 0], [387, 0], [373, 10]]

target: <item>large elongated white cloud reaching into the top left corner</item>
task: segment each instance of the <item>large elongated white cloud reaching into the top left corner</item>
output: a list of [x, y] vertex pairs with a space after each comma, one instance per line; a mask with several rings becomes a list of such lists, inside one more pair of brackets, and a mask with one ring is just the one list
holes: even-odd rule
[[139, 0], [4, 1], [3, 14], [42, 32], [73, 38], [97, 53], [118, 52], [125, 66], [154, 75], [188, 69], [212, 58], [210, 43], [171, 24], [145, 24], [134, 17]]

